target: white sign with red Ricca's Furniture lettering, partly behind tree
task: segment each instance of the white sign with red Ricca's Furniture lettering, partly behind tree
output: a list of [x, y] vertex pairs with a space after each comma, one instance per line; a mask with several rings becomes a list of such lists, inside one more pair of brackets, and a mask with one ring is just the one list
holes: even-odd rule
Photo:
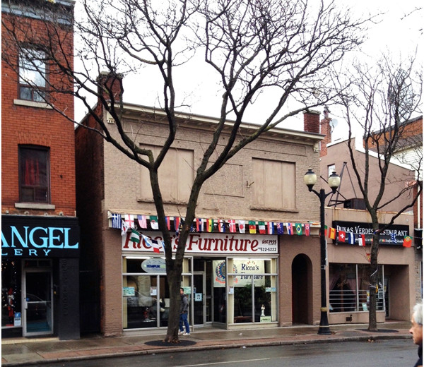
[[[163, 241], [158, 232], [143, 232], [145, 236], [157, 241]], [[172, 236], [172, 251], [178, 246], [177, 236]], [[122, 237], [122, 251], [153, 251], [153, 248], [143, 239], [139, 243], [126, 241]], [[270, 254], [278, 253], [278, 236], [242, 235], [242, 234], [212, 234], [193, 233], [187, 239], [186, 253], [219, 253], [227, 254]]]

